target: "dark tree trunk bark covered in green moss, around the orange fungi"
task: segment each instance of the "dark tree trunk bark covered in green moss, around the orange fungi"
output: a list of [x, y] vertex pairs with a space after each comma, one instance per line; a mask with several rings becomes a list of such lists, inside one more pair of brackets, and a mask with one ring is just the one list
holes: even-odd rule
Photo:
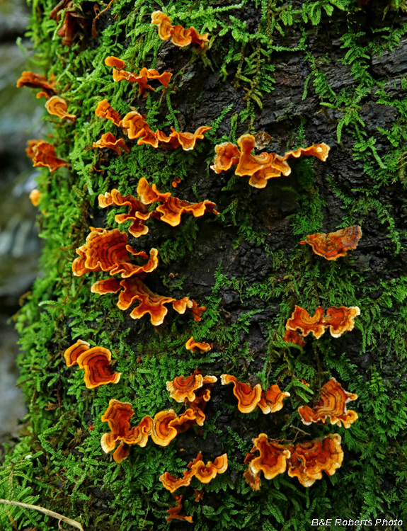
[[[98, 34], [91, 37], [98, 4], [76, 1], [86, 23], [78, 25], [71, 47], [62, 45], [49, 19], [55, 4], [33, 2], [33, 69], [41, 65], [41, 73], [56, 75], [78, 119], [69, 125], [50, 118], [52, 142], [71, 169], [44, 171], [39, 181], [45, 275], [18, 316], [30, 421], [6, 458], [1, 497], [57, 510], [89, 531], [308, 530], [313, 518], [401, 519], [407, 509], [400, 499], [407, 471], [404, 4], [117, 0], [98, 17]], [[208, 30], [209, 46], [178, 48], [159, 40], [150, 24], [157, 8], [173, 23]], [[125, 59], [134, 72], [170, 70], [173, 84], [139, 98], [137, 87], [113, 82], [104, 64], [108, 55]], [[96, 118], [105, 97], [121, 115], [131, 107], [146, 113], [154, 130], [212, 130], [193, 152], [138, 146]], [[129, 154], [91, 148], [108, 131], [125, 138]], [[325, 163], [293, 161], [290, 176], [270, 180], [263, 190], [233, 171], [209, 169], [215, 144], [259, 131], [271, 135], [268, 152], [319, 142], [331, 152]], [[107, 275], [71, 274], [89, 227], [117, 227], [120, 210], [98, 208], [98, 193], [118, 188], [135, 195], [141, 177], [178, 198], [217, 203], [217, 216], [184, 216], [179, 227], [151, 219], [147, 236], [130, 238], [137, 249], [159, 249], [159, 267], [145, 280], [151, 290], [205, 304], [198, 323], [172, 309], [157, 328], [148, 316], [134, 321], [117, 309], [117, 296], [91, 294], [93, 282]], [[175, 190], [176, 177], [182, 182]], [[298, 245], [306, 234], [351, 224], [361, 225], [362, 239], [336, 262]], [[310, 314], [319, 305], [358, 306], [361, 315], [352, 332], [340, 338], [326, 333], [299, 348], [282, 341], [295, 304]], [[185, 350], [191, 335], [214, 343], [213, 350]], [[112, 350], [119, 384], [84, 387], [82, 372], [66, 367], [63, 358], [77, 338]], [[191, 428], [168, 447], [132, 447], [120, 465], [103, 453], [108, 427], [101, 415], [110, 399], [130, 401], [136, 422], [162, 409], [181, 411], [166, 381], [195, 368], [263, 388], [278, 382], [291, 396], [278, 413], [243, 415], [231, 386], [218, 382], [202, 429]], [[359, 395], [352, 407], [360, 418], [348, 430], [304, 426], [297, 413], [298, 406], [317, 401], [330, 377]], [[259, 433], [283, 442], [339, 433], [343, 465], [308, 489], [282, 474], [262, 479], [253, 492], [243, 479], [243, 459]], [[229, 469], [210, 484], [183, 489], [183, 512], [193, 524], [166, 523], [173, 498], [159, 476], [166, 470], [181, 475], [200, 450], [205, 461], [227, 452]], [[199, 503], [194, 487], [204, 491]], [[53, 525], [17, 508], [2, 514], [5, 529]]]

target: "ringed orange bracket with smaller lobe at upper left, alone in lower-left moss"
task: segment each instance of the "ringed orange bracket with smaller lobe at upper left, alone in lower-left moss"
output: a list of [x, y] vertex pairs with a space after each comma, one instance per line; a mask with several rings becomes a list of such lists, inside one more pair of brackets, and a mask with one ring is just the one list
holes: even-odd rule
[[84, 382], [88, 389], [94, 389], [104, 384], [117, 384], [121, 373], [113, 372], [110, 367], [112, 353], [107, 348], [92, 347], [86, 341], [79, 339], [64, 352], [67, 367], [79, 365], [85, 370]]

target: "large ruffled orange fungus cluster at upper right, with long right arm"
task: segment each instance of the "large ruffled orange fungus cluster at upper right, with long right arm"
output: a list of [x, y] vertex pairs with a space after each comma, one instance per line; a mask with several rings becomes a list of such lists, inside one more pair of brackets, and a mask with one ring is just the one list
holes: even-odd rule
[[249, 185], [254, 188], [265, 188], [267, 181], [271, 178], [288, 176], [291, 168], [289, 159], [298, 159], [300, 156], [316, 156], [321, 161], [326, 161], [329, 153], [329, 146], [326, 144], [316, 144], [310, 147], [300, 147], [294, 151], [284, 154], [275, 153], [252, 154], [256, 144], [256, 137], [253, 135], [242, 135], [236, 144], [224, 142], [215, 146], [216, 156], [211, 167], [216, 173], [227, 171], [231, 166], [236, 166], [234, 171], [237, 176], [250, 176]]

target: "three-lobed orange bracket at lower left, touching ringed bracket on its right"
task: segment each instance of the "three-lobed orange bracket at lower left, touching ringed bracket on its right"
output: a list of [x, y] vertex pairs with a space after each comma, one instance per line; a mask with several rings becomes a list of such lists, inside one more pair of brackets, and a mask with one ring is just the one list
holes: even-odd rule
[[108, 409], [102, 415], [102, 422], [108, 422], [110, 433], [103, 433], [101, 438], [102, 449], [105, 453], [115, 450], [117, 442], [120, 445], [113, 454], [115, 462], [120, 463], [129, 455], [125, 445], [139, 445], [144, 447], [149, 440], [149, 434], [153, 428], [153, 419], [145, 416], [137, 424], [130, 426], [130, 418], [134, 415], [132, 404], [111, 399]]

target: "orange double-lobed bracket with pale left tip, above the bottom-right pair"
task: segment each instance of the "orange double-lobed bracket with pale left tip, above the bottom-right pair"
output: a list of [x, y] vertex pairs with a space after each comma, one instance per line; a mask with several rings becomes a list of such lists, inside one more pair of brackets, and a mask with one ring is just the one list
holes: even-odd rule
[[266, 391], [263, 391], [260, 384], [253, 388], [249, 384], [239, 382], [232, 375], [221, 376], [222, 385], [233, 384], [233, 394], [238, 400], [238, 409], [241, 413], [251, 413], [254, 409], [259, 408], [263, 413], [275, 413], [282, 409], [282, 401], [290, 396], [290, 393], [280, 391], [277, 384], [271, 385]]

